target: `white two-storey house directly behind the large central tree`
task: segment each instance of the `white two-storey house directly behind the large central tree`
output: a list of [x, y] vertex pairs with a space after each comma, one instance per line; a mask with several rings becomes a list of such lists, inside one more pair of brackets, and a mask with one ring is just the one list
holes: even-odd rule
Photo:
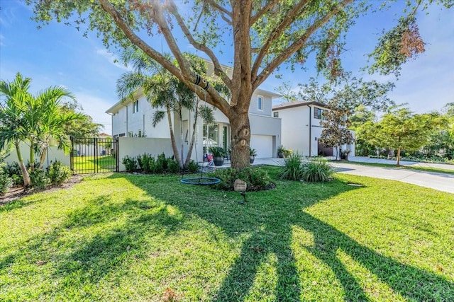
[[[213, 69], [212, 64], [207, 63], [210, 74]], [[226, 69], [230, 71], [228, 67]], [[281, 120], [272, 116], [272, 99], [280, 96], [262, 89], [253, 93], [249, 107], [250, 146], [258, 151], [258, 158], [277, 156], [277, 147], [281, 144]], [[153, 127], [151, 120], [155, 110], [148, 103], [141, 89], [135, 93], [132, 100], [119, 101], [106, 111], [112, 116], [113, 137], [143, 137], [145, 135], [147, 138], [170, 139], [167, 117]], [[186, 110], [182, 115], [181, 127], [176, 113], [172, 114], [171, 118], [177, 146], [181, 145], [181, 137], [184, 140], [183, 154], [185, 156], [189, 147], [189, 139], [194, 131], [194, 112]], [[196, 161], [202, 161], [202, 154], [206, 150], [204, 147], [221, 146], [224, 149], [230, 147], [231, 128], [228, 118], [216, 108], [214, 108], [214, 117], [216, 120], [214, 124], [203, 124], [201, 121], [197, 121], [194, 146], [196, 151], [192, 152], [192, 158]], [[181, 133], [180, 129], [182, 129]], [[170, 156], [170, 154], [168, 155]]]

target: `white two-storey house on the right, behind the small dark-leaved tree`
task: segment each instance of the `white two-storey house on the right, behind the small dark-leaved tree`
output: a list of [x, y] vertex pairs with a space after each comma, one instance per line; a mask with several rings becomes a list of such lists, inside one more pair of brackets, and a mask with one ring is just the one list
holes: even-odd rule
[[[334, 148], [319, 144], [323, 127], [323, 111], [330, 110], [319, 102], [299, 101], [282, 103], [272, 108], [273, 116], [282, 120], [282, 145], [285, 149], [299, 152], [303, 156], [336, 156]], [[355, 132], [350, 130], [355, 137]], [[342, 150], [355, 154], [355, 143], [343, 145]]]

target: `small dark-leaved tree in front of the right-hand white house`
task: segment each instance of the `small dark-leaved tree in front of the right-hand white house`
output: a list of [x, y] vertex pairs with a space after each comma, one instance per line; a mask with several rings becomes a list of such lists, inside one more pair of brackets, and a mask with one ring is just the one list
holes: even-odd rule
[[323, 112], [324, 120], [320, 121], [323, 128], [319, 141], [325, 146], [336, 148], [336, 160], [343, 144], [353, 143], [353, 135], [348, 127], [350, 122], [347, 119], [348, 110], [331, 108]]

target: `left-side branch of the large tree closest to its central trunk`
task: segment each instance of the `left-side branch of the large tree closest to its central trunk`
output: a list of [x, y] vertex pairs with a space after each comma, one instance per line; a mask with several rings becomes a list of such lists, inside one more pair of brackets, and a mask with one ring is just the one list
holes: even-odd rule
[[198, 43], [196, 42], [196, 40], [194, 40], [194, 37], [189, 32], [189, 29], [187, 28], [186, 24], [184, 24], [182, 17], [179, 15], [178, 8], [173, 0], [170, 1], [170, 13], [172, 13], [172, 15], [175, 16], [175, 18], [177, 19], [177, 23], [179, 27], [182, 29], [184, 35], [187, 37], [187, 40], [189, 40], [189, 43], [191, 43], [191, 45], [194, 46], [196, 50], [200, 50], [209, 56], [211, 62], [213, 62], [214, 64], [214, 74], [216, 74], [216, 76], [219, 76], [222, 79], [222, 81], [226, 84], [228, 89], [232, 90], [232, 81], [223, 71], [218, 58], [216, 57], [214, 52], [209, 49], [209, 47], [206, 47], [206, 45]]

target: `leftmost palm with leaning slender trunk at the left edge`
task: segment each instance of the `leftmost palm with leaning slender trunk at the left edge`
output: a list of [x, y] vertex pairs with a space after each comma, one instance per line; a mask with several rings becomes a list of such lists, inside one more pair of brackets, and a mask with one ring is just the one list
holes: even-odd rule
[[31, 132], [30, 124], [26, 119], [26, 103], [31, 98], [28, 93], [30, 82], [30, 78], [23, 79], [20, 73], [16, 74], [16, 79], [11, 83], [0, 81], [0, 95], [5, 97], [4, 102], [0, 102], [0, 149], [3, 149], [6, 144], [14, 144], [19, 167], [21, 167], [23, 185], [26, 187], [30, 185], [30, 176], [23, 163], [20, 143], [26, 141]]

